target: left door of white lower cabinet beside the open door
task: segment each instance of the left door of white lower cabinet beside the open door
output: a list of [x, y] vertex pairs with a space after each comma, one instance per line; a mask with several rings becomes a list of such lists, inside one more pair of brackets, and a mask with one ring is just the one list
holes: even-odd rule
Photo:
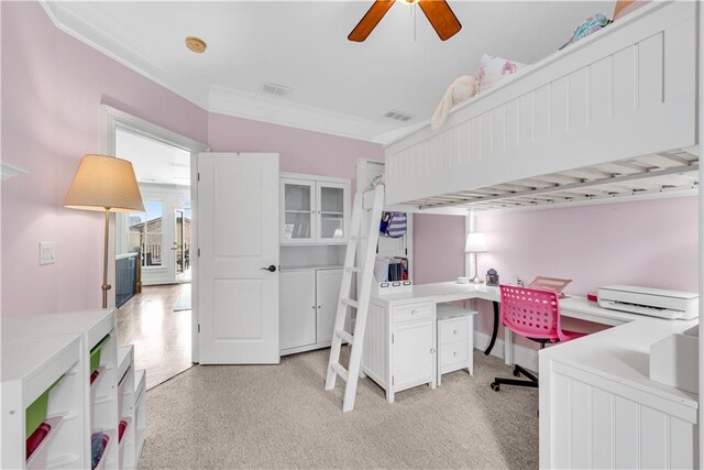
[[312, 270], [280, 274], [282, 351], [316, 342], [316, 276]]

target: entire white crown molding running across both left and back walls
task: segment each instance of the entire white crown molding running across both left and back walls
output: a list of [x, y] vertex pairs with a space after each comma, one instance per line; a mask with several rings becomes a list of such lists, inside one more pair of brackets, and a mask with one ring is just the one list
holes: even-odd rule
[[[213, 86], [199, 87], [179, 81], [150, 58], [118, 39], [98, 30], [66, 9], [62, 2], [40, 0], [54, 25], [125, 67], [175, 92], [209, 112], [322, 132], [385, 144], [408, 132], [393, 122], [356, 118], [280, 98]], [[415, 125], [414, 125], [415, 127]]]

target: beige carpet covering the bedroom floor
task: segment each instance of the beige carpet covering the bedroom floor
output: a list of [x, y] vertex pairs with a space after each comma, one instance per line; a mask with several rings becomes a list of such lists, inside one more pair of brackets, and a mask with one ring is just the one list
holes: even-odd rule
[[[346, 348], [345, 348], [346, 349]], [[323, 390], [329, 349], [280, 365], [194, 367], [147, 392], [141, 468], [537, 468], [538, 391], [504, 386], [499, 359], [446, 374], [388, 405], [370, 379], [343, 414]]]

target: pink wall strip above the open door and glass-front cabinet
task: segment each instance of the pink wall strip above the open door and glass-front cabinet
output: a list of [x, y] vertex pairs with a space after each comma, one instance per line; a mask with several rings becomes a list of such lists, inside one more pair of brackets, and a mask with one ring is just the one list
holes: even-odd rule
[[375, 143], [216, 113], [208, 119], [208, 143], [212, 152], [277, 152], [282, 172], [351, 179], [359, 159], [384, 159]]

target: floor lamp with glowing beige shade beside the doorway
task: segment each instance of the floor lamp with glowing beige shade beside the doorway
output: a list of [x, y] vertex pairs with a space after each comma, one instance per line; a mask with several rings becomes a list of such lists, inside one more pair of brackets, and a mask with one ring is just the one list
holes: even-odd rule
[[132, 163], [108, 155], [86, 155], [74, 175], [64, 207], [106, 214], [102, 258], [102, 308], [108, 308], [108, 237], [110, 212], [144, 212]]

